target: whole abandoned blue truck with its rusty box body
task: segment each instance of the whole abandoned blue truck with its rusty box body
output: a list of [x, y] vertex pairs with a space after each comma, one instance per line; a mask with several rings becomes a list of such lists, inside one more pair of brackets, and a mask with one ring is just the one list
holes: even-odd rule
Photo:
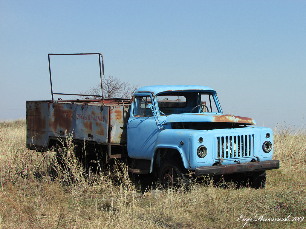
[[223, 114], [216, 91], [206, 86], [141, 87], [132, 99], [54, 100], [63, 93], [53, 93], [51, 82], [51, 94], [52, 100], [26, 101], [27, 147], [57, 148], [69, 134], [76, 157], [91, 170], [120, 159], [130, 173], [158, 174], [165, 188], [189, 184], [190, 174], [247, 179], [262, 188], [265, 171], [279, 168], [272, 130]]

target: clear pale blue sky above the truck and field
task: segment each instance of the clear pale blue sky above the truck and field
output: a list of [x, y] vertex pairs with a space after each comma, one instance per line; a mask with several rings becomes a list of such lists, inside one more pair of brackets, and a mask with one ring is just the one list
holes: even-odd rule
[[[0, 119], [51, 99], [47, 53], [89, 52], [130, 84], [210, 86], [258, 126], [306, 121], [306, 1], [0, 0]], [[95, 58], [51, 58], [56, 91], [98, 82]]]

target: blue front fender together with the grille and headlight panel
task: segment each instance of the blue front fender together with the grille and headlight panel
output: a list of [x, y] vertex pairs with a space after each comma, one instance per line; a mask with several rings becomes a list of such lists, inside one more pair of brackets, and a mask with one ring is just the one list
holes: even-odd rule
[[[236, 164], [237, 161], [241, 163], [251, 162], [253, 159], [257, 160], [256, 157], [260, 161], [271, 160], [273, 151], [264, 153], [262, 150], [262, 145], [267, 140], [266, 133], [270, 133], [269, 140], [273, 143], [273, 139], [271, 139], [272, 130], [264, 127], [216, 130], [165, 129], [158, 134], [154, 151], [156, 153], [158, 148], [177, 149], [181, 154], [184, 167], [192, 170], [200, 166], [213, 165], [219, 162], [219, 159], [223, 165]], [[224, 141], [223, 145], [218, 147], [218, 137], [220, 136], [224, 136], [224, 139], [232, 139], [232, 142], [228, 142], [227, 145], [226, 141]], [[238, 142], [234, 144], [234, 136], [243, 136], [244, 139], [247, 136], [247, 141], [244, 141], [242, 145], [241, 143], [238, 144]], [[253, 136], [253, 138], [249, 139], [249, 136]], [[202, 143], [199, 142], [200, 137], [203, 139]], [[181, 141], [184, 142], [183, 146], [180, 144]], [[201, 145], [207, 148], [207, 155], [204, 158], [200, 158], [197, 155], [197, 149]], [[218, 156], [218, 151], [220, 152], [222, 147], [224, 150], [223, 157], [222, 154]], [[239, 155], [238, 150], [241, 152]], [[154, 156], [152, 156], [151, 160], [153, 159]], [[153, 161], [151, 169], [152, 166]]]

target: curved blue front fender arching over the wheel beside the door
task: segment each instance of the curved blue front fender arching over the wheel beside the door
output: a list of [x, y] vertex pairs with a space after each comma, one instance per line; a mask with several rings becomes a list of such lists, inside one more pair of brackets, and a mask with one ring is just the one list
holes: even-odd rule
[[[154, 158], [159, 148], [176, 149], [182, 158], [185, 169], [190, 170], [189, 166], [189, 138], [195, 130], [184, 129], [165, 129], [162, 130], [156, 139], [154, 153], [151, 158], [150, 173], [153, 170]], [[183, 142], [183, 144], [181, 144]]]

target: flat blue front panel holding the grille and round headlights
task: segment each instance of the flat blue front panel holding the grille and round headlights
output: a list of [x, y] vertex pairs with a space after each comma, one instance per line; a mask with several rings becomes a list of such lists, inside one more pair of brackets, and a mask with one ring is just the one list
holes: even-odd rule
[[[237, 161], [241, 163], [251, 162], [256, 157], [260, 161], [271, 160], [273, 150], [269, 153], [264, 153], [262, 149], [263, 143], [267, 140], [266, 133], [271, 134], [269, 139], [273, 144], [272, 130], [265, 127], [196, 131], [189, 140], [190, 168], [194, 170], [200, 166], [213, 165], [219, 160], [223, 165], [235, 164]], [[203, 138], [202, 143], [198, 141], [200, 137]], [[223, 137], [223, 142], [218, 142], [218, 138], [221, 137]], [[239, 137], [240, 140], [238, 141]], [[207, 148], [207, 155], [204, 158], [198, 157], [196, 153], [200, 145], [204, 145]], [[220, 153], [218, 154], [218, 152]]]

